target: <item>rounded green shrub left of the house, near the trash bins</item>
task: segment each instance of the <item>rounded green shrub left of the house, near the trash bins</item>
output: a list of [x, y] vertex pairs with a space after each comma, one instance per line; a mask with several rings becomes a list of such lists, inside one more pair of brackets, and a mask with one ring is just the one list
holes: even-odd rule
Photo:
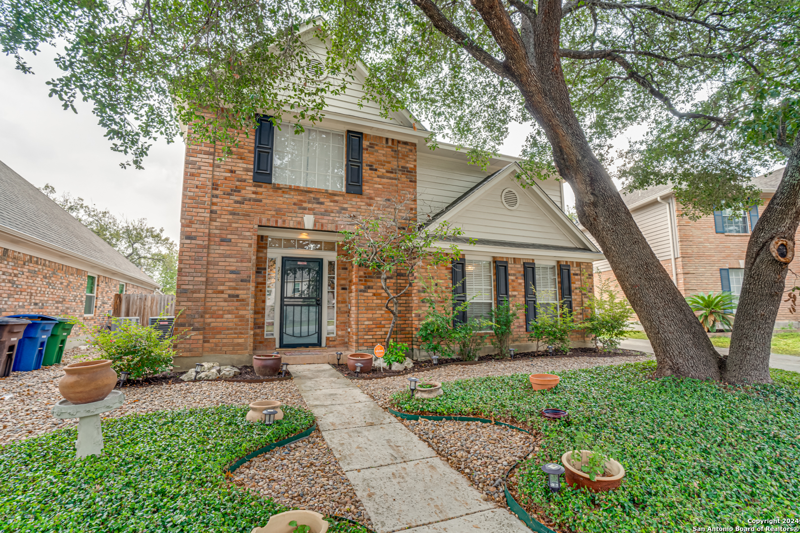
[[130, 372], [130, 378], [172, 370], [174, 337], [163, 337], [158, 329], [128, 320], [111, 319], [116, 331], [96, 326], [90, 344], [99, 348], [116, 372]]

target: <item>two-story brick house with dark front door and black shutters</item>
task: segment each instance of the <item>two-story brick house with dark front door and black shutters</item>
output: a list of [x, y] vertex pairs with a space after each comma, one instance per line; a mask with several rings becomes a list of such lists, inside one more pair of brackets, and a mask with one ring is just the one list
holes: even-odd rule
[[[324, 63], [321, 44], [306, 44]], [[470, 314], [495, 305], [498, 288], [524, 303], [525, 268], [530, 280], [537, 274], [542, 302], [571, 292], [574, 308], [582, 304], [579, 288], [591, 286], [591, 262], [602, 255], [562, 213], [561, 182], [522, 188], [514, 157], [494, 157], [482, 170], [454, 145], [429, 149], [430, 132], [410, 113], [384, 117], [373, 101], [359, 101], [365, 77], [359, 66], [357, 82], [327, 97], [324, 120], [304, 123], [300, 135], [262, 117], [256, 132], [238, 132], [224, 159], [221, 147], [187, 146], [176, 308], [177, 327], [193, 335], [179, 347], [181, 368], [248, 364], [276, 347], [353, 352], [382, 342], [390, 313], [379, 276], [342, 261], [338, 231], [346, 214], [386, 198], [410, 197], [419, 220], [446, 217], [478, 240], [459, 243], [463, 262], [453, 267], [478, 296]], [[452, 268], [441, 268], [451, 284]], [[401, 301], [396, 331], [414, 348], [419, 298], [417, 288]], [[527, 343], [523, 319], [515, 340]]]

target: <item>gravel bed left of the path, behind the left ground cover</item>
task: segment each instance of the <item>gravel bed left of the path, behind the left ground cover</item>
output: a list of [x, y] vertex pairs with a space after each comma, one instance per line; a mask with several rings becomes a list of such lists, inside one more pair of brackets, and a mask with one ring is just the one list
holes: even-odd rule
[[[53, 405], [62, 400], [58, 392], [58, 380], [64, 376], [62, 367], [86, 359], [86, 356], [96, 358], [89, 351], [74, 348], [64, 353], [62, 364], [33, 372], [11, 372], [11, 376], [0, 378], [0, 444], [78, 424], [78, 419], [54, 418], [51, 411]], [[272, 383], [178, 381], [148, 387], [124, 387], [122, 391], [125, 392], [125, 404], [102, 414], [103, 418], [190, 407], [246, 405], [253, 400], [305, 405], [291, 380]]]

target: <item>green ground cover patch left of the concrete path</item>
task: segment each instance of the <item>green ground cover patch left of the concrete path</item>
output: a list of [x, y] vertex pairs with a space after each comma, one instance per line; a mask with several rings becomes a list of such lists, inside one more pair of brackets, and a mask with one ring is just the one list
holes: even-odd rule
[[226, 482], [222, 469], [314, 421], [282, 409], [271, 428], [230, 405], [104, 420], [106, 455], [86, 459], [74, 458], [74, 428], [2, 446], [0, 531], [250, 533], [288, 508]]

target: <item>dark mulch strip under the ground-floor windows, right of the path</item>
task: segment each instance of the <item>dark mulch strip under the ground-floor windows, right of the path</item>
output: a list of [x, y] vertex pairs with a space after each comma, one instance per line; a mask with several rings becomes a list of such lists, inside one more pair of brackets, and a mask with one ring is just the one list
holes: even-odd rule
[[452, 364], [482, 364], [490, 361], [496, 363], [510, 363], [513, 361], [562, 359], [565, 357], [639, 357], [646, 355], [644, 352], [637, 352], [635, 350], [616, 349], [598, 351], [596, 348], [570, 348], [569, 352], [555, 353], [558, 355], [551, 356], [548, 352], [520, 352], [514, 355], [514, 359], [511, 359], [510, 357], [503, 357], [500, 359], [497, 356], [488, 355], [480, 356], [478, 357], [478, 360], [475, 361], [465, 361], [459, 357], [441, 357], [439, 358], [439, 364], [433, 364], [431, 360], [414, 361], [414, 366], [407, 370], [381, 370], [377, 366], [373, 365], [370, 372], [358, 373], [351, 371], [350, 368], [347, 368], [347, 364], [345, 363], [331, 364], [330, 366], [338, 370], [342, 376], [348, 377], [351, 380], [380, 380], [386, 377], [405, 376], [406, 374], [419, 372], [421, 370], [445, 368]]

